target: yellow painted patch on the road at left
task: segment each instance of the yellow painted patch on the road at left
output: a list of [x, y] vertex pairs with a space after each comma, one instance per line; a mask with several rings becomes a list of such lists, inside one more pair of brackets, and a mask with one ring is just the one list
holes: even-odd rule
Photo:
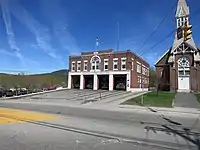
[[20, 120], [44, 121], [54, 120], [57, 118], [58, 116], [36, 113], [31, 111], [0, 108], [0, 124], [17, 123], [21, 122]]

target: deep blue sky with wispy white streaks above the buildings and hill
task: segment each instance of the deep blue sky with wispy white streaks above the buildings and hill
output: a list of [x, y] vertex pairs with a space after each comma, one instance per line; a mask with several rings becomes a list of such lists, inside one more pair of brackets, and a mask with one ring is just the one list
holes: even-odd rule
[[[176, 27], [177, 2], [0, 0], [0, 72], [28, 74], [66, 69], [69, 55], [95, 51], [97, 36], [99, 49], [116, 50], [118, 33], [119, 50], [130, 49], [153, 66], [173, 43], [175, 33], [166, 37]], [[200, 1], [187, 2], [193, 37], [200, 45]]]

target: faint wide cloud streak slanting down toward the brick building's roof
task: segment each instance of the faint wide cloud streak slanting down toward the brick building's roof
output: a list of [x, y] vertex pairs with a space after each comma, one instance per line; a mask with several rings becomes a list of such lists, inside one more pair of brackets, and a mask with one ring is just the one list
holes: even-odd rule
[[[51, 4], [48, 4], [48, 1], [45, 0], [41, 0], [40, 2], [42, 11], [47, 16], [47, 19], [53, 24], [55, 36], [57, 37], [61, 46], [67, 50], [70, 55], [74, 53], [80, 54], [80, 47], [76, 43], [76, 39], [69, 32], [67, 19], [64, 15], [65, 12], [61, 7], [60, 1], [52, 0]], [[52, 12], [54, 13], [52, 14]]]

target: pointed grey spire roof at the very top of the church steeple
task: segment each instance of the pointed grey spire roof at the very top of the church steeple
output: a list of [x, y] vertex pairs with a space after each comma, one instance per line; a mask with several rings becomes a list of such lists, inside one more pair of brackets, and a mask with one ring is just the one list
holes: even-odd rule
[[176, 17], [178, 18], [178, 17], [188, 16], [189, 14], [190, 10], [186, 3], [186, 0], [179, 0], [176, 10]]

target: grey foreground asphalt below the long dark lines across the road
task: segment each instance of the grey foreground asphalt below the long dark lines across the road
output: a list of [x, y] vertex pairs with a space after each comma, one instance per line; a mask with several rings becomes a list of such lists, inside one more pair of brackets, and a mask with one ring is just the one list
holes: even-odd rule
[[165, 150], [28, 123], [0, 125], [0, 150]]

